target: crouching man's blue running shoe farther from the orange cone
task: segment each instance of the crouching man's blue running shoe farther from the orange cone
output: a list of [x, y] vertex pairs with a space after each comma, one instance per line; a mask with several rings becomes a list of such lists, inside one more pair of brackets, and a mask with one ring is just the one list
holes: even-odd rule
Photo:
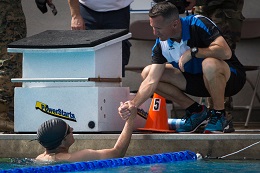
[[224, 133], [224, 128], [227, 125], [225, 113], [221, 116], [217, 116], [215, 110], [211, 110], [208, 114], [210, 118], [204, 129], [204, 133]]

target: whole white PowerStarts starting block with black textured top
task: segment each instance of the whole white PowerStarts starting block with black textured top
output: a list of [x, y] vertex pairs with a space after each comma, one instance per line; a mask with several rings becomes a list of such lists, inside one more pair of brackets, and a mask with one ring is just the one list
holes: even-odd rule
[[[121, 131], [118, 107], [130, 98], [121, 86], [121, 42], [129, 37], [124, 30], [45, 31], [9, 44], [8, 52], [23, 53], [23, 76], [12, 79], [23, 83], [15, 88], [14, 131], [36, 132], [55, 117], [75, 132]], [[144, 125], [137, 116], [135, 128]]]

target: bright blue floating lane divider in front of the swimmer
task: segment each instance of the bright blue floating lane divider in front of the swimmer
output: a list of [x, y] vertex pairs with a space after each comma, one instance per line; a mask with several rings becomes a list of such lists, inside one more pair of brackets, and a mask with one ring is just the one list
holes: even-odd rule
[[196, 153], [192, 151], [180, 151], [154, 155], [133, 156], [107, 160], [94, 160], [87, 162], [74, 162], [41, 167], [24, 167], [1, 170], [0, 173], [52, 173], [52, 172], [80, 172], [94, 169], [112, 168], [118, 166], [144, 165], [154, 163], [167, 163], [185, 160], [197, 160]]

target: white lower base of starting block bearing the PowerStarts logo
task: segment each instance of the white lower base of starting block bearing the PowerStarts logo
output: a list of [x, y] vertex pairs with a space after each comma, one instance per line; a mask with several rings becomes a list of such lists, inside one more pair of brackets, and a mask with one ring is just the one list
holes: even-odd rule
[[[15, 131], [35, 132], [48, 119], [64, 119], [75, 132], [121, 131], [121, 101], [129, 99], [127, 87], [15, 88]], [[149, 109], [150, 103], [143, 107]], [[137, 116], [135, 128], [143, 127]]]

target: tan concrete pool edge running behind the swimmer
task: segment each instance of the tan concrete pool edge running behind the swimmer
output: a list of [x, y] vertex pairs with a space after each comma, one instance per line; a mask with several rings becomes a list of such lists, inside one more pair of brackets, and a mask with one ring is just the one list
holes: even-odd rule
[[[134, 132], [126, 156], [149, 155], [191, 150], [203, 156], [225, 159], [260, 159], [260, 123], [235, 124], [236, 131], [225, 134], [179, 134]], [[74, 134], [71, 152], [84, 148], [102, 149], [114, 146], [119, 133]], [[43, 152], [36, 134], [0, 134], [0, 158], [34, 158]], [[241, 150], [241, 151], [239, 151]], [[239, 151], [239, 152], [238, 152]]]

